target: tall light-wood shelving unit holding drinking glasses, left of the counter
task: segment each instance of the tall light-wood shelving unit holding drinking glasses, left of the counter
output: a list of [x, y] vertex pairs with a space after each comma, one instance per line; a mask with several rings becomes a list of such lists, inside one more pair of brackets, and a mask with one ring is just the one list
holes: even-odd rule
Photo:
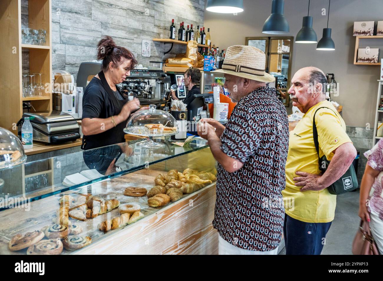
[[[14, 126], [23, 115], [23, 101], [30, 101], [36, 111], [52, 110], [52, 4], [51, 0], [28, 1], [28, 27], [46, 30], [46, 45], [21, 44], [21, 0], [2, 0], [0, 30], [2, 50], [0, 76], [2, 102], [0, 126], [17, 135]], [[23, 97], [21, 50], [29, 50], [29, 72], [42, 73], [42, 83], [48, 87], [42, 97]]]

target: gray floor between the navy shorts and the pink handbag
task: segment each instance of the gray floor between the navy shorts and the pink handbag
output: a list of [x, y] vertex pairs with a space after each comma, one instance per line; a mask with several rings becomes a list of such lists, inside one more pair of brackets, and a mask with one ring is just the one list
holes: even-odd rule
[[[359, 189], [337, 197], [335, 219], [327, 233], [322, 255], [352, 255], [351, 245], [360, 222], [358, 208]], [[285, 254], [285, 249], [279, 253]]]

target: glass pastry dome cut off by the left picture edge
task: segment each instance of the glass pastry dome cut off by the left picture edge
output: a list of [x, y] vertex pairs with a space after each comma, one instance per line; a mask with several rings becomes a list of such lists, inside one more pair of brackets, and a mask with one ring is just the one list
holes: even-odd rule
[[[26, 161], [23, 145], [17, 136], [0, 127], [0, 171], [23, 164]], [[0, 179], [0, 187], [4, 180]]]

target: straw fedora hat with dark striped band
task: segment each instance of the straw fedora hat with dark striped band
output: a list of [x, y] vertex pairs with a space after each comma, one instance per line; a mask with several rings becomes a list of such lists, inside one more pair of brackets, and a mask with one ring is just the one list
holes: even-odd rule
[[266, 72], [266, 56], [260, 49], [234, 45], [226, 50], [222, 69], [214, 72], [231, 74], [260, 82], [273, 82], [275, 77]]

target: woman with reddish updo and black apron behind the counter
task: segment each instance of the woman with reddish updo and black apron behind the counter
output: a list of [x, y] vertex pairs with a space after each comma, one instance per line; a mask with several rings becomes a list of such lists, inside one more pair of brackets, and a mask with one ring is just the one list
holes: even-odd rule
[[102, 70], [89, 82], [82, 99], [81, 148], [85, 150], [123, 143], [126, 122], [140, 108], [137, 98], [129, 101], [116, 87], [137, 65], [134, 55], [105, 36], [97, 44], [97, 59], [103, 60]]

